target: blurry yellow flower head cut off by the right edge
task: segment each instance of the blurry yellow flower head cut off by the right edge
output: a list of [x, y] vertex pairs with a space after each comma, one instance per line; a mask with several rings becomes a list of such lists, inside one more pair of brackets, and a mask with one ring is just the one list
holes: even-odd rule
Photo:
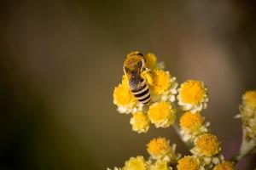
[[247, 91], [242, 96], [241, 122], [248, 139], [256, 141], [256, 90]]

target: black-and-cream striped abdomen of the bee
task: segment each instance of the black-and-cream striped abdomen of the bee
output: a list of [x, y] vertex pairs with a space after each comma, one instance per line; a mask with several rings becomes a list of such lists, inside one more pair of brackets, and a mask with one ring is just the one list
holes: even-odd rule
[[150, 102], [149, 87], [145, 79], [140, 83], [140, 87], [131, 89], [131, 94], [142, 104], [148, 104]]

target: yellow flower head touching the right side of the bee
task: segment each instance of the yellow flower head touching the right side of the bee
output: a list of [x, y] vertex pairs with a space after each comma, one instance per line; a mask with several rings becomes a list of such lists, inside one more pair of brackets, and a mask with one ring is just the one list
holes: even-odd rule
[[171, 86], [171, 76], [168, 71], [152, 70], [143, 72], [143, 77], [146, 78], [152, 94], [163, 94]]

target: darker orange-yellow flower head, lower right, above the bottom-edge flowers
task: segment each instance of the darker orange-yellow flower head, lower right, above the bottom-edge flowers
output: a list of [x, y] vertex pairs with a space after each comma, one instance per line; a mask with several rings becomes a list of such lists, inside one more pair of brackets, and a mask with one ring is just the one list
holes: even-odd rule
[[218, 138], [210, 133], [204, 133], [195, 139], [195, 150], [201, 156], [214, 156], [221, 150]]

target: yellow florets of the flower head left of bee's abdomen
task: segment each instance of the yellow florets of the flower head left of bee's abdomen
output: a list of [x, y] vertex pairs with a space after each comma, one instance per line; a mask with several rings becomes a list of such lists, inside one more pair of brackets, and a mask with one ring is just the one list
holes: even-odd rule
[[119, 84], [118, 87], [113, 90], [113, 103], [118, 106], [129, 106], [136, 102], [135, 97], [131, 94], [128, 87], [123, 84]]

